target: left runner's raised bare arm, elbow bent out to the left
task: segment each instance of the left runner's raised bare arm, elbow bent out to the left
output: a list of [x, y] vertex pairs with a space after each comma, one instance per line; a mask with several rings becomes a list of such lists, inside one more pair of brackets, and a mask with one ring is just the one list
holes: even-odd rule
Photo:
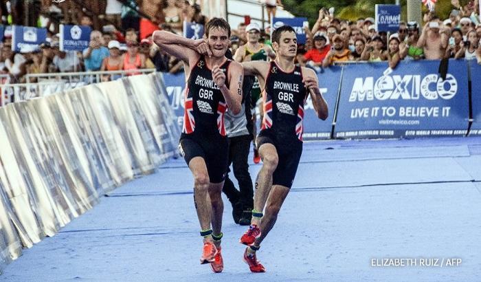
[[200, 54], [198, 50], [203, 43], [203, 39], [194, 41], [165, 30], [155, 31], [153, 33], [153, 41], [168, 54], [181, 59], [185, 63], [189, 63], [189, 65], [193, 65], [199, 60]]

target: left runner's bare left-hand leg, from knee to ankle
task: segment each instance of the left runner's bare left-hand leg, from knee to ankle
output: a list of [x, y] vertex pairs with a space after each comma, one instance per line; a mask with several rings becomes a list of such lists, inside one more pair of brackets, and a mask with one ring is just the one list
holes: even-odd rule
[[[210, 186], [209, 174], [205, 161], [201, 157], [192, 158], [189, 162], [189, 169], [194, 175], [194, 205], [197, 210], [197, 217], [202, 230], [210, 230], [211, 204], [208, 191]], [[210, 237], [204, 237], [208, 240]]]

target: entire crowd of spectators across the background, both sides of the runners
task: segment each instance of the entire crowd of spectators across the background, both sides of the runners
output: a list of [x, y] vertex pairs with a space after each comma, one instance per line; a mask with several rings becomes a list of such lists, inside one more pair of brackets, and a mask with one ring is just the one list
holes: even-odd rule
[[[0, 6], [3, 25], [16, 23], [16, 17], [22, 14], [10, 2], [19, 1], [7, 1], [8, 5]], [[47, 28], [47, 41], [40, 45], [39, 50], [20, 54], [12, 52], [11, 37], [5, 34], [0, 49], [0, 74], [10, 74], [14, 80], [23, 82], [24, 74], [55, 72], [126, 70], [137, 74], [135, 69], [144, 68], [181, 72], [183, 64], [153, 44], [151, 34], [158, 29], [181, 34], [183, 21], [205, 24], [208, 19], [195, 2], [83, 1], [89, 7], [86, 10], [74, 0], [63, 3], [43, 0], [39, 4], [41, 12], [36, 22], [38, 27]], [[264, 2], [272, 14], [276, 6], [281, 5], [279, 0]], [[321, 8], [313, 27], [304, 28], [306, 43], [298, 46], [296, 63], [311, 67], [316, 72], [347, 61], [388, 61], [391, 68], [403, 60], [443, 58], [465, 58], [481, 64], [481, 24], [476, 14], [478, 1], [469, 1], [464, 7], [458, 0], [451, 3], [453, 10], [448, 19], [439, 19], [434, 12], [425, 12], [423, 23], [401, 22], [394, 34], [378, 32], [373, 18], [345, 21]], [[83, 52], [60, 51], [60, 23], [91, 26], [93, 32], [89, 47]], [[269, 47], [270, 32], [269, 25], [261, 28], [255, 23], [240, 23], [232, 30], [232, 54], [256, 56], [256, 52], [262, 49], [266, 59], [272, 58], [275, 54]]]

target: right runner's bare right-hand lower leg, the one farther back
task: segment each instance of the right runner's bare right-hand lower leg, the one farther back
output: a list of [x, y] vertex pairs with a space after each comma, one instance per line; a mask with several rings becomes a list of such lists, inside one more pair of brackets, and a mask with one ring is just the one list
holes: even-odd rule
[[289, 194], [289, 190], [290, 188], [286, 186], [272, 186], [269, 197], [267, 198], [264, 216], [260, 221], [259, 228], [260, 230], [262, 230], [262, 233], [260, 234], [260, 237], [256, 239], [256, 243], [254, 243], [254, 246], [258, 247], [260, 245], [260, 242], [264, 240], [264, 238], [267, 236], [269, 231], [276, 223], [280, 207], [282, 206], [282, 203], [284, 203], [284, 199], [286, 199], [287, 194]]

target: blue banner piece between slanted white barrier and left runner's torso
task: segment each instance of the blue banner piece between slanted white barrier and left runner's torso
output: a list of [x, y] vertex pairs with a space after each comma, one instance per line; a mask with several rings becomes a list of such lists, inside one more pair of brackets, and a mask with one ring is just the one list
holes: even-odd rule
[[186, 88], [186, 76], [183, 72], [179, 74], [162, 73], [170, 107], [177, 116], [179, 127], [183, 125], [183, 96]]

